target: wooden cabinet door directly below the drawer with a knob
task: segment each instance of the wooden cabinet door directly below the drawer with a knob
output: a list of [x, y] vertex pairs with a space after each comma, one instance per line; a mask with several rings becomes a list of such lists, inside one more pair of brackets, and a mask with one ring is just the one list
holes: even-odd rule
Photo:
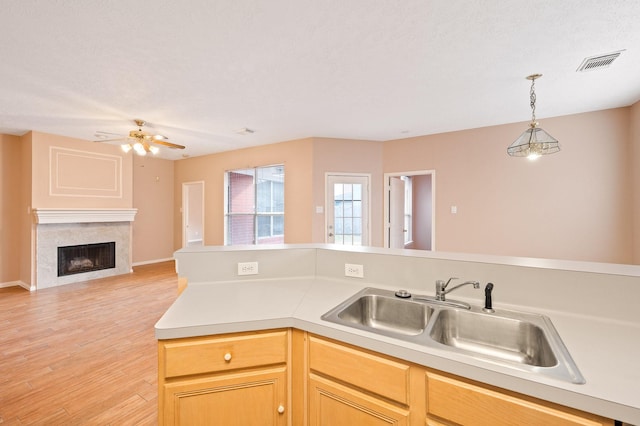
[[165, 425], [285, 426], [286, 367], [164, 385]]

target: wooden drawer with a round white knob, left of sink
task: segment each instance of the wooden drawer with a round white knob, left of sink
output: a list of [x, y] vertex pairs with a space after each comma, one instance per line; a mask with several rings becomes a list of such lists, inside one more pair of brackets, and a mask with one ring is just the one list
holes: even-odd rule
[[281, 330], [161, 341], [164, 377], [285, 363], [287, 340], [287, 331]]

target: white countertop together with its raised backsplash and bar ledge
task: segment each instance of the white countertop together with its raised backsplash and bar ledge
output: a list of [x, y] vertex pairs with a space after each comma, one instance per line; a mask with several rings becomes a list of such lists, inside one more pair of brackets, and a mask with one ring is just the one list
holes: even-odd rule
[[[156, 324], [161, 343], [197, 336], [297, 330], [506, 391], [640, 424], [640, 369], [634, 356], [640, 353], [640, 321], [631, 301], [640, 294], [640, 280], [633, 268], [620, 271], [601, 265], [598, 269], [597, 265], [574, 262], [549, 268], [536, 266], [532, 260], [505, 262], [324, 245], [189, 248], [177, 252], [176, 260], [179, 276], [189, 285]], [[259, 274], [238, 276], [237, 264], [244, 262], [257, 262]], [[364, 277], [345, 277], [345, 263], [363, 265]], [[585, 271], [588, 268], [592, 269]], [[496, 308], [547, 315], [586, 383], [555, 380], [320, 318], [364, 287], [433, 294], [435, 280], [449, 276], [493, 282]], [[461, 290], [455, 298], [475, 305], [483, 302], [482, 294], [473, 289]]]

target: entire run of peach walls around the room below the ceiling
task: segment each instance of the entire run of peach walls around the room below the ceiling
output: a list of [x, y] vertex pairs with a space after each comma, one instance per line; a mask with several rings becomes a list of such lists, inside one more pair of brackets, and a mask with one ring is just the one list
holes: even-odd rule
[[[205, 243], [222, 244], [224, 172], [279, 163], [287, 174], [288, 243], [324, 241], [324, 215], [315, 206], [324, 205], [325, 172], [372, 174], [372, 244], [381, 246], [383, 173], [434, 169], [437, 250], [640, 264], [640, 103], [540, 121], [562, 151], [537, 162], [506, 155], [526, 122], [384, 143], [308, 138], [175, 162], [136, 159], [135, 169], [128, 155], [123, 197], [108, 205], [49, 196], [49, 147], [122, 155], [117, 146], [38, 132], [0, 135], [0, 284], [32, 282], [31, 207], [136, 207], [136, 220], [153, 220], [134, 222], [133, 260], [146, 263], [180, 248], [182, 182], [206, 182]], [[19, 248], [19, 266], [8, 260], [8, 246]]]

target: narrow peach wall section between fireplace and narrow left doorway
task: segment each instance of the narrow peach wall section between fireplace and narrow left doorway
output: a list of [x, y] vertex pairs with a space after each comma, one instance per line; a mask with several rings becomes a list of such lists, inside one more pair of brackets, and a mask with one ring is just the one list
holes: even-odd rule
[[174, 162], [133, 155], [133, 263], [173, 258]]

